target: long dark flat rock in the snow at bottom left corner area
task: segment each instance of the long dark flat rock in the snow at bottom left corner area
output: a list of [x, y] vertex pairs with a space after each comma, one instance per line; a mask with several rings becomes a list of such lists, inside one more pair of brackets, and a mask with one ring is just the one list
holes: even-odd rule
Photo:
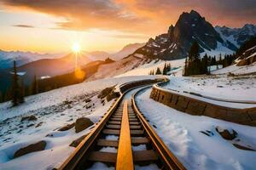
[[35, 151], [44, 150], [45, 146], [46, 142], [44, 140], [39, 141], [36, 144], [29, 144], [28, 146], [20, 148], [20, 150], [17, 150], [15, 152], [14, 158], [24, 156]]

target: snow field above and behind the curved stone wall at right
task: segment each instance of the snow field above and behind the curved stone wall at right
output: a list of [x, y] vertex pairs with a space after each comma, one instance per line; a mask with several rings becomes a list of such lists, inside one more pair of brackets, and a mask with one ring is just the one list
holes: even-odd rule
[[[201, 99], [216, 105], [235, 108], [255, 107], [249, 104], [222, 102], [219, 100], [256, 102], [256, 76], [253, 77], [227, 77], [227, 76], [201, 76], [201, 77], [170, 77], [170, 82], [163, 88], [175, 90], [172, 93], [186, 95]], [[193, 94], [201, 94], [205, 98]], [[212, 99], [206, 99], [212, 98]]]

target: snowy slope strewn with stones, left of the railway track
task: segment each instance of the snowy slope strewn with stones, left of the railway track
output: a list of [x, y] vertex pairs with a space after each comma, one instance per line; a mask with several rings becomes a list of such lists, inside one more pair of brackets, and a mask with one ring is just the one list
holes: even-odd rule
[[[125, 82], [154, 78], [116, 77], [93, 82], [83, 82], [37, 94], [26, 98], [26, 103], [10, 107], [10, 103], [0, 104], [0, 169], [52, 169], [67, 159], [74, 150], [68, 146], [90, 132], [88, 127], [80, 133], [74, 128], [58, 131], [60, 127], [73, 123], [79, 117], [88, 117], [92, 122], [98, 122], [108, 111], [113, 100], [105, 101], [97, 98], [97, 94], [111, 86], [119, 86]], [[84, 99], [90, 99], [85, 102]], [[23, 121], [24, 116], [36, 116], [35, 121]], [[13, 159], [16, 150], [40, 140], [46, 141], [45, 150], [33, 152]]]

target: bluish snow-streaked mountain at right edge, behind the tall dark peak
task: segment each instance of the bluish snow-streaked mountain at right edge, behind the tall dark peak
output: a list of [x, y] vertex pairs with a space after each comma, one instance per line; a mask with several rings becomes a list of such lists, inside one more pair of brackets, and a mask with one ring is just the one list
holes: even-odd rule
[[250, 37], [256, 36], [256, 26], [246, 24], [241, 28], [229, 28], [226, 26], [215, 26], [215, 30], [219, 33], [224, 42], [233, 43], [239, 48], [242, 43], [246, 42]]

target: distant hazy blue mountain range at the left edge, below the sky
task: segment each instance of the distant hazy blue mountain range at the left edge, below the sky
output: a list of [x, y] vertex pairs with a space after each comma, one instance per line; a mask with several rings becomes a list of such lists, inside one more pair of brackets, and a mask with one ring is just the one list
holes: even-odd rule
[[0, 70], [13, 67], [14, 59], [17, 66], [36, 61], [38, 59], [53, 59], [61, 54], [38, 54], [22, 51], [3, 51], [0, 50]]

